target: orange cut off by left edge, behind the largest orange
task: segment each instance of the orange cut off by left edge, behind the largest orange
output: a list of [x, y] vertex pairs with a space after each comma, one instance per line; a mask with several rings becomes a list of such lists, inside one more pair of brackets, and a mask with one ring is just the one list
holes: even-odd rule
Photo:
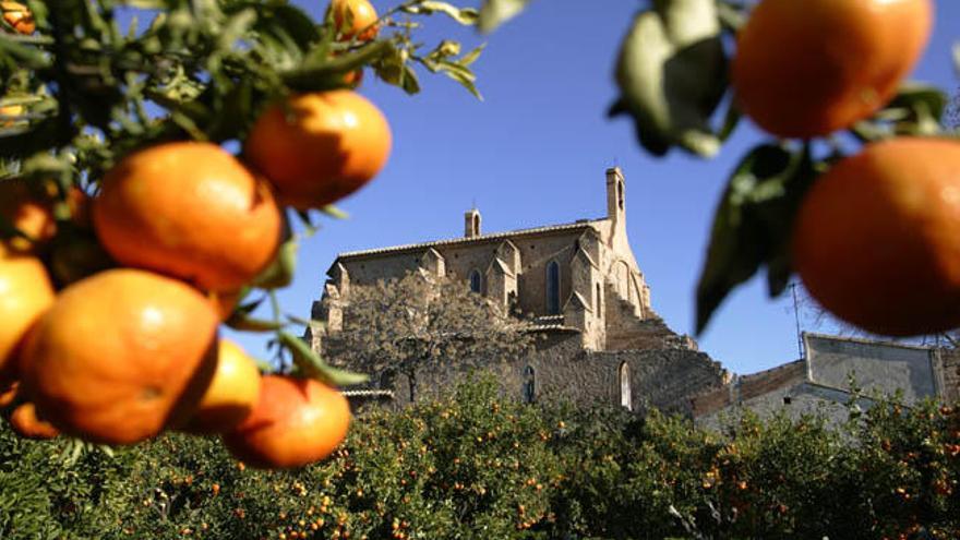
[[24, 336], [53, 304], [55, 296], [38, 259], [0, 243], [0, 381], [16, 377]]

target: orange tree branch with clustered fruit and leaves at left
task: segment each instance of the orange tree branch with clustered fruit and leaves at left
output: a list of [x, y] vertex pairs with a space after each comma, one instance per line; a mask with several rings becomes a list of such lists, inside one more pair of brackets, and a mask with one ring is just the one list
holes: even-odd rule
[[[288, 326], [307, 322], [273, 291], [290, 283], [311, 213], [336, 215], [387, 159], [388, 121], [355, 92], [362, 72], [413, 94], [420, 65], [476, 94], [479, 49], [413, 39], [416, 17], [471, 25], [477, 11], [336, 0], [313, 20], [257, 0], [36, 0], [0, 12], [11, 421], [107, 444], [223, 433], [262, 467], [328, 455], [350, 418], [335, 387], [364, 377], [295, 337]], [[273, 320], [252, 319], [267, 298]], [[272, 376], [219, 343], [221, 323], [275, 334]]]

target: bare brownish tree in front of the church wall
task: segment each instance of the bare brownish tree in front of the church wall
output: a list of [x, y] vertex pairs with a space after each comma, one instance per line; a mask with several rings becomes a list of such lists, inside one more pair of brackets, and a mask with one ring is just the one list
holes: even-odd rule
[[343, 329], [326, 337], [323, 348], [336, 363], [381, 381], [404, 375], [413, 401], [423, 370], [494, 365], [528, 355], [528, 328], [467, 284], [410, 273], [353, 287]]

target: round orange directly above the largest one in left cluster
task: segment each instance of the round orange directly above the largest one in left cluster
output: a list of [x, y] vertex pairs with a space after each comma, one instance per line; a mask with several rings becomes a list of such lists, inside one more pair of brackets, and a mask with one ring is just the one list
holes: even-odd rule
[[255, 277], [280, 241], [268, 185], [209, 143], [140, 151], [107, 172], [94, 226], [118, 262], [235, 290]]

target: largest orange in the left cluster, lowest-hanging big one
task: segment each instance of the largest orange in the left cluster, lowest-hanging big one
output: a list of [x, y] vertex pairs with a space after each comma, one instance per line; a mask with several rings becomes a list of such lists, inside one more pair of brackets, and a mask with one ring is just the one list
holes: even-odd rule
[[216, 368], [218, 317], [190, 286], [111, 269], [62, 291], [21, 357], [26, 395], [64, 433], [132, 444], [193, 413]]

